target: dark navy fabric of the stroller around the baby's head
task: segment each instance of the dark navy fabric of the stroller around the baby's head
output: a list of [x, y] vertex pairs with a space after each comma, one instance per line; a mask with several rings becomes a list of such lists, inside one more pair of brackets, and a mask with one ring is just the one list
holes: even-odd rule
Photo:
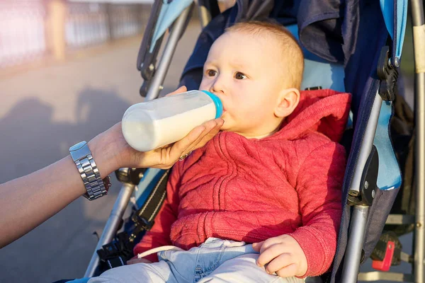
[[[239, 6], [246, 2], [252, 1], [237, 1], [237, 5], [213, 18], [203, 30], [183, 71], [181, 85], [186, 85], [189, 90], [198, 88], [208, 51], [225, 28], [241, 19], [256, 19], [246, 16], [249, 9], [239, 11]], [[357, 153], [370, 116], [370, 108], [379, 88], [380, 81], [376, 75], [378, 57], [381, 48], [388, 40], [380, 3], [365, 0], [276, 1], [269, 11], [269, 18], [274, 18], [279, 23], [284, 25], [297, 23], [300, 42], [312, 54], [327, 62], [339, 62], [344, 65], [345, 89], [353, 93], [353, 123], [356, 125], [351, 151]], [[386, 115], [390, 117], [391, 112]], [[327, 276], [326, 282], [338, 282], [337, 278], [341, 275], [351, 209], [346, 201], [353, 178], [353, 168], [356, 166], [356, 157], [355, 154], [351, 154], [348, 159], [342, 202], [345, 209], [341, 219], [333, 270]], [[378, 190], [375, 196], [368, 216], [368, 233], [363, 248], [364, 259], [368, 258], [380, 238], [397, 192], [398, 187], [394, 190]]]

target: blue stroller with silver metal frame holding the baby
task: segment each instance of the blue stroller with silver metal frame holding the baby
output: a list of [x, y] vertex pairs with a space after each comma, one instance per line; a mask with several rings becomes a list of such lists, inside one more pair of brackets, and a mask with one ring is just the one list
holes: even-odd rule
[[[140, 93], [147, 100], [157, 98], [162, 90], [176, 44], [188, 24], [192, 2], [157, 0], [152, 7], [137, 57], [137, 69], [144, 79]], [[186, 85], [188, 90], [198, 88], [208, 50], [227, 26], [242, 19], [270, 17], [285, 25], [300, 40], [305, 52], [302, 89], [332, 88], [353, 94], [353, 115], [349, 123], [352, 129], [347, 130], [346, 138], [348, 149], [351, 149], [343, 186], [344, 210], [333, 267], [322, 276], [323, 282], [380, 279], [425, 282], [425, 25], [422, 2], [411, 1], [416, 55], [416, 215], [390, 217], [390, 209], [402, 186], [399, 162], [390, 138], [390, 121], [396, 100], [400, 99], [396, 96], [396, 83], [407, 1], [237, 0], [223, 13], [217, 1], [197, 2], [203, 32], [181, 76], [181, 85]], [[170, 32], [157, 63], [166, 30]], [[98, 275], [104, 265], [124, 265], [132, 257], [132, 245], [152, 227], [165, 197], [168, 171], [121, 168], [116, 174], [124, 185], [85, 277]], [[130, 198], [133, 200], [132, 216], [124, 225], [124, 232], [116, 234]], [[381, 237], [385, 223], [415, 224], [414, 257], [401, 252], [394, 234]], [[374, 259], [374, 267], [385, 271], [392, 264], [407, 260], [413, 265], [413, 275], [358, 274], [359, 264], [370, 256]]]

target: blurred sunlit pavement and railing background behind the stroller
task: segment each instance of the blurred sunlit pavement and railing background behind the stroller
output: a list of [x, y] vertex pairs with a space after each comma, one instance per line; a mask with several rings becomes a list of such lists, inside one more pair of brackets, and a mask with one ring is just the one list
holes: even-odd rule
[[[151, 6], [149, 0], [0, 0], [0, 183], [67, 156], [69, 146], [89, 141], [142, 101], [136, 58]], [[408, 24], [401, 68], [413, 105]], [[176, 88], [199, 33], [195, 15], [162, 93]], [[112, 177], [108, 197], [79, 198], [2, 248], [0, 282], [82, 277], [96, 247], [94, 232], [101, 234], [120, 189]], [[407, 252], [411, 241], [403, 238]]]

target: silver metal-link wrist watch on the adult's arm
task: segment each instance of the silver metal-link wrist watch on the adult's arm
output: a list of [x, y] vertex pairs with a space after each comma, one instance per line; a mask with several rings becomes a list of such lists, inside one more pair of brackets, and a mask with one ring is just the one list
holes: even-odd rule
[[88, 200], [96, 200], [108, 194], [111, 187], [111, 178], [108, 176], [102, 180], [96, 163], [86, 141], [81, 141], [69, 148], [72, 160], [77, 165], [77, 169], [83, 179], [87, 192], [84, 194]]

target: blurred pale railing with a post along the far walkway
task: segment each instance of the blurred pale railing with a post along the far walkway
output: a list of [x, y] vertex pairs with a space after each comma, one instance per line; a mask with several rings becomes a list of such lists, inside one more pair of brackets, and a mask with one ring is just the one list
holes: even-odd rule
[[[145, 1], [146, 2], [146, 1]], [[142, 33], [150, 4], [0, 1], [0, 69]]]

